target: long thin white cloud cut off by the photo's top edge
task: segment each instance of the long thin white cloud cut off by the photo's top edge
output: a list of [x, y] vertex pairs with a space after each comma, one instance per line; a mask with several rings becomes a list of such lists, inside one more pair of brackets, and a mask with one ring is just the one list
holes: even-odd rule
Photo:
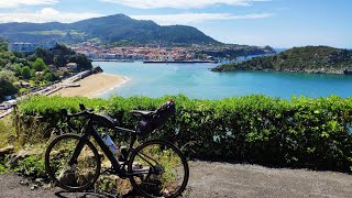
[[140, 9], [158, 9], [158, 8], [175, 8], [175, 9], [190, 9], [190, 8], [206, 8], [216, 4], [228, 6], [251, 6], [257, 1], [271, 0], [100, 0], [105, 2], [119, 3], [127, 7]]

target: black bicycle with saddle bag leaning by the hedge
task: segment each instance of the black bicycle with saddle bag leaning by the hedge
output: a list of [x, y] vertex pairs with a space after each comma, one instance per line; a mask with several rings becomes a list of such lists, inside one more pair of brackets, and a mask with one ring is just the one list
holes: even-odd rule
[[[45, 152], [45, 168], [50, 178], [63, 189], [82, 191], [91, 188], [101, 172], [101, 158], [96, 144], [111, 163], [109, 172], [129, 178], [133, 189], [144, 197], [177, 197], [186, 188], [189, 167], [184, 154], [172, 143], [151, 140], [134, 147], [138, 135], [151, 133], [163, 125], [175, 113], [174, 101], [167, 101], [155, 111], [133, 110], [131, 113], [141, 117], [135, 130], [118, 127], [112, 118], [94, 113], [80, 105], [81, 112], [62, 113], [70, 118], [84, 117], [86, 124], [82, 134], [62, 134], [54, 139]], [[129, 146], [117, 157], [97, 131], [103, 125], [131, 138]], [[109, 147], [110, 146], [110, 147]], [[117, 147], [114, 147], [117, 148]], [[119, 162], [122, 161], [122, 163]]]

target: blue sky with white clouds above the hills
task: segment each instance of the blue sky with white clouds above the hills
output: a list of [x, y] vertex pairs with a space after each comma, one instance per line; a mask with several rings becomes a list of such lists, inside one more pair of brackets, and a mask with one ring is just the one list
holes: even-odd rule
[[352, 0], [0, 0], [0, 23], [127, 14], [231, 44], [352, 48]]

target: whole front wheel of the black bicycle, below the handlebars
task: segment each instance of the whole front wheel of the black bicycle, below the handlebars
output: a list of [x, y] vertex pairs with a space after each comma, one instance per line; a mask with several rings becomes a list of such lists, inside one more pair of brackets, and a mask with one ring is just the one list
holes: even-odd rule
[[68, 165], [80, 139], [77, 134], [57, 136], [45, 152], [46, 173], [56, 185], [69, 191], [92, 187], [100, 175], [100, 156], [89, 141], [85, 141], [77, 164]]

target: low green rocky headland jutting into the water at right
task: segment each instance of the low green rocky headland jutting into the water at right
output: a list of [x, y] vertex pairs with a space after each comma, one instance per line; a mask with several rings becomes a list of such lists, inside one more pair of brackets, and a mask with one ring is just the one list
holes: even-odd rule
[[279, 70], [314, 74], [352, 74], [352, 51], [329, 46], [294, 47], [272, 56], [220, 65], [212, 72]]

